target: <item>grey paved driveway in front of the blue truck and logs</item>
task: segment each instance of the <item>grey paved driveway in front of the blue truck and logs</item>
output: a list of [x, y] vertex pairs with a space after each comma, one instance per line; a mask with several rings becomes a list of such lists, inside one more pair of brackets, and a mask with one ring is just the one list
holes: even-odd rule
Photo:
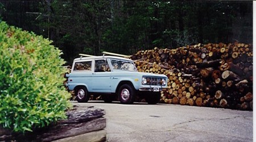
[[253, 111], [147, 103], [73, 103], [106, 111], [107, 141], [253, 141]]

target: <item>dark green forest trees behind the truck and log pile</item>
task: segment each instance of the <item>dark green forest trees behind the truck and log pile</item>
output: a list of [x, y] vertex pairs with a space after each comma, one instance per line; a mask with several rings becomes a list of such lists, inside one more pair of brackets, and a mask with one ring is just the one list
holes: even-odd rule
[[0, 19], [79, 53], [253, 43], [253, 1], [0, 0]]

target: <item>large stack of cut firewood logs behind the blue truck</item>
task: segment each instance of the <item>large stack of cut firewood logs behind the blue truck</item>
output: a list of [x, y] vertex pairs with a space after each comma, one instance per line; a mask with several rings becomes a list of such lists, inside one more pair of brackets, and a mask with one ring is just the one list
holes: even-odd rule
[[163, 103], [253, 110], [253, 47], [197, 44], [139, 51], [130, 57], [139, 72], [166, 74]]

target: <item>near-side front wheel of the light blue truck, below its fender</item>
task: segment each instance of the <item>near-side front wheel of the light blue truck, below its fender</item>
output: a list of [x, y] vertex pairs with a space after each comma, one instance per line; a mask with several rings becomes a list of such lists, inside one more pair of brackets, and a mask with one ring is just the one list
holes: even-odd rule
[[119, 101], [123, 104], [131, 104], [135, 100], [135, 89], [129, 84], [123, 84], [119, 87], [118, 98]]

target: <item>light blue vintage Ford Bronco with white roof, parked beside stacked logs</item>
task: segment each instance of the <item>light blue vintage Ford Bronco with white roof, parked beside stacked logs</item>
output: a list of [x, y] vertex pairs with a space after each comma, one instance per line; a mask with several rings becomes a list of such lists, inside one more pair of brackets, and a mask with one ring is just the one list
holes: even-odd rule
[[149, 104], [156, 104], [160, 101], [160, 91], [167, 88], [167, 76], [138, 72], [133, 60], [116, 56], [77, 58], [66, 77], [66, 86], [75, 90], [78, 102], [87, 102], [90, 95], [101, 94], [105, 102], [118, 97], [121, 103], [130, 104], [138, 95]]

